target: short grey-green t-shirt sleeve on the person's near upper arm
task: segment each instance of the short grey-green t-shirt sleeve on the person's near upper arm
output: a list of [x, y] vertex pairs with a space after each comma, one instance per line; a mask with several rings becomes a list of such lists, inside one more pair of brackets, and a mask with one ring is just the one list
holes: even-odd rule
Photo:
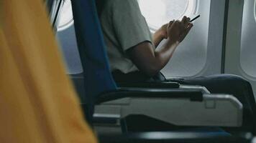
[[123, 51], [143, 41], [152, 43], [150, 29], [137, 0], [117, 0], [112, 12], [114, 32]]

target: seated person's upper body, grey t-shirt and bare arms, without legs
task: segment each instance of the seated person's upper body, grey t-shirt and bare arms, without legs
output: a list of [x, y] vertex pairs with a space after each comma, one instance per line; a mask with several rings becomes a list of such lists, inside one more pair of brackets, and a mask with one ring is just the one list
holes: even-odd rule
[[[163, 25], [152, 36], [137, 1], [110, 0], [104, 3], [101, 25], [110, 68], [115, 73], [114, 79], [119, 82], [130, 80], [122, 74], [137, 74], [136, 79], [140, 82], [155, 77], [193, 26], [184, 16], [182, 21]], [[163, 39], [167, 42], [155, 49]]]

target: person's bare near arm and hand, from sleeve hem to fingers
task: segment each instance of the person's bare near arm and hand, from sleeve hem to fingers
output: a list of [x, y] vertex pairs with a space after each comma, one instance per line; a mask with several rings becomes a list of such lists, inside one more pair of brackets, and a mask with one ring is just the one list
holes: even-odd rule
[[[154, 45], [145, 41], [128, 49], [127, 54], [140, 71], [150, 77], [154, 76], [168, 63], [178, 44], [185, 39], [191, 30], [193, 24], [189, 21], [190, 19], [186, 16], [183, 17], [182, 21], [170, 21], [166, 26], [167, 42], [159, 49], [155, 50]], [[159, 44], [160, 40], [155, 40], [154, 43]]]

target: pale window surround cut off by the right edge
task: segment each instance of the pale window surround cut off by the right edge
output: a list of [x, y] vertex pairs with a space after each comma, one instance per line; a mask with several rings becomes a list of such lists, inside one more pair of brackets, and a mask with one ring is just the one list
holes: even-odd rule
[[244, 74], [249, 78], [256, 78], [256, 24], [255, 1], [244, 1], [244, 14], [242, 20], [242, 37], [240, 49], [240, 65]]

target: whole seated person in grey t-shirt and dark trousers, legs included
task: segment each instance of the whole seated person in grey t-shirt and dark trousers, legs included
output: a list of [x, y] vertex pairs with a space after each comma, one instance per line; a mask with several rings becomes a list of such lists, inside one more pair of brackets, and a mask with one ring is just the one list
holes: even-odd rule
[[[166, 81], [160, 70], [192, 29], [190, 18], [183, 16], [181, 21], [170, 21], [152, 35], [137, 0], [98, 0], [96, 6], [114, 80], [117, 83]], [[157, 47], [163, 39], [167, 39], [165, 44]], [[244, 107], [244, 127], [256, 133], [255, 97], [250, 83], [242, 77], [217, 74], [171, 81], [201, 85], [211, 93], [234, 95]]]

